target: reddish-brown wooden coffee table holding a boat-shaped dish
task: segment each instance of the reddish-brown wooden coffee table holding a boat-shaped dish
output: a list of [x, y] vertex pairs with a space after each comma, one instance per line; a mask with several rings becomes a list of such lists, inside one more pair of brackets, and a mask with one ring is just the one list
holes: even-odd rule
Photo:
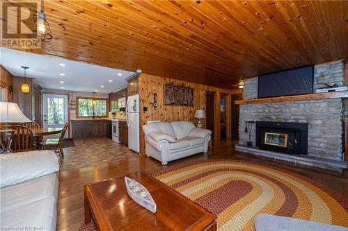
[[85, 223], [98, 230], [216, 230], [216, 216], [144, 171], [127, 175], [148, 189], [157, 204], [153, 214], [130, 198], [125, 178], [86, 185]]

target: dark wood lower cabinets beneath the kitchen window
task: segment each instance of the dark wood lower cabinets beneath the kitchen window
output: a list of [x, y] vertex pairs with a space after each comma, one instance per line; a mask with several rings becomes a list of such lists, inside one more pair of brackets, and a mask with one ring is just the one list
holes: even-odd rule
[[84, 119], [71, 121], [72, 138], [111, 137], [111, 121], [108, 119]]

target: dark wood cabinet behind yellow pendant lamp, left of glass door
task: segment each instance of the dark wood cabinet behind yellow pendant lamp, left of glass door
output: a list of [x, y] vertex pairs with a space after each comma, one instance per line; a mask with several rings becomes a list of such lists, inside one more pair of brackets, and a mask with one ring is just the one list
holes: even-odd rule
[[[23, 83], [29, 85], [30, 92], [22, 92]], [[42, 126], [41, 89], [42, 87], [35, 78], [13, 77], [13, 102], [18, 104], [20, 110], [22, 110], [26, 117], [40, 124], [40, 126]]]

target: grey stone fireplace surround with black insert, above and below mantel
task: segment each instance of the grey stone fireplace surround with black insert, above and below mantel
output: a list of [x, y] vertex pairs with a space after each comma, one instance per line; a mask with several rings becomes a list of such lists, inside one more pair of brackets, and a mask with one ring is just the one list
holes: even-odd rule
[[[344, 84], [342, 61], [315, 65], [314, 71], [314, 89], [324, 83]], [[243, 96], [244, 99], [257, 99], [258, 78], [244, 81]], [[318, 157], [318, 160], [344, 160], [342, 99], [242, 104], [239, 107], [239, 146], [246, 146], [248, 139], [246, 121], [257, 123], [257, 128], [251, 132], [254, 147]]]

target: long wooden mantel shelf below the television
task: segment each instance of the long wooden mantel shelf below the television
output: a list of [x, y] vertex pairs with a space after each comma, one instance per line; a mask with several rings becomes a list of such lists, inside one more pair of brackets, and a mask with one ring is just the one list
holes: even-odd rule
[[297, 96], [280, 96], [273, 98], [263, 99], [245, 99], [241, 101], [235, 101], [235, 104], [252, 104], [252, 103], [276, 103], [283, 101], [304, 101], [310, 99], [345, 99], [348, 98], [348, 91], [345, 92], [328, 92], [321, 94], [301, 94]]

